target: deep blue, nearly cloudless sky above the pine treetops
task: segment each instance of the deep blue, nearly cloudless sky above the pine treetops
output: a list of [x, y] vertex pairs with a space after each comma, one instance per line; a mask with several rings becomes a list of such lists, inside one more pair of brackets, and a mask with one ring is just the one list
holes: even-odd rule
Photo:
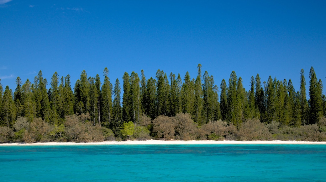
[[141, 69], [195, 78], [198, 63], [218, 86], [234, 70], [246, 90], [257, 73], [298, 90], [311, 66], [325, 85], [326, 1], [0, 0], [0, 78], [13, 91], [39, 70], [73, 87], [83, 69], [122, 84]]

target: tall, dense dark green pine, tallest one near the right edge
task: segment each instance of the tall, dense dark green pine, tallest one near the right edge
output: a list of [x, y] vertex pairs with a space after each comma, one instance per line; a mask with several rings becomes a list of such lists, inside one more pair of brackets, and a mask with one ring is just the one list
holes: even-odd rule
[[309, 123], [316, 124], [322, 116], [322, 99], [321, 99], [321, 84], [317, 80], [314, 68], [311, 67], [309, 72]]

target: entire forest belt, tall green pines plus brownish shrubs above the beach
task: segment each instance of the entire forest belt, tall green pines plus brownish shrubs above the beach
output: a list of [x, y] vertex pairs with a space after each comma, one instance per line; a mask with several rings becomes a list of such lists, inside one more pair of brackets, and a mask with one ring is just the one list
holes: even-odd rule
[[[71, 85], [55, 72], [49, 84], [42, 71], [33, 83], [17, 77], [13, 91], [0, 80], [0, 143], [90, 142], [104, 140], [305, 140], [326, 141], [326, 97], [311, 67], [307, 99], [304, 70], [300, 89], [291, 80], [231, 72], [219, 86], [207, 71], [181, 78], [157, 70], [125, 72], [110, 82], [109, 70]], [[298, 75], [299, 76], [299, 75]]]

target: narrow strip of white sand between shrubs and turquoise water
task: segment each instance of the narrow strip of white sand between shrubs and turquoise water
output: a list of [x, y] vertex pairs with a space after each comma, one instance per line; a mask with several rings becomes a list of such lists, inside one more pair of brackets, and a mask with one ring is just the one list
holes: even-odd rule
[[104, 142], [88, 142], [88, 143], [74, 143], [74, 142], [45, 142], [45, 143], [4, 143], [0, 146], [25, 146], [25, 145], [159, 145], [159, 144], [326, 144], [326, 142], [306, 142], [306, 141], [213, 141], [213, 140], [128, 140], [128, 141], [104, 141]]

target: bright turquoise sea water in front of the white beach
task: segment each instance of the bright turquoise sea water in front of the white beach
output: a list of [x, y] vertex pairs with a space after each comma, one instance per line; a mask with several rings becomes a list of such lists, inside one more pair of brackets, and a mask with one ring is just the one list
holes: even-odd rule
[[325, 181], [326, 145], [0, 146], [0, 181]]

